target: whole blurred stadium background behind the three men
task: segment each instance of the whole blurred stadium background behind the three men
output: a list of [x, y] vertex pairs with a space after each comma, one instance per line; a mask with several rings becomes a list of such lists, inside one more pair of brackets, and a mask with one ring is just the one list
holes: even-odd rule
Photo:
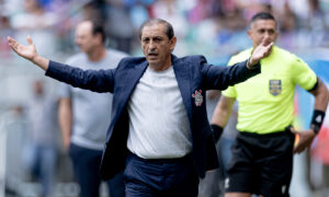
[[[26, 44], [31, 35], [39, 54], [64, 62], [78, 53], [76, 25], [93, 18], [105, 26], [106, 47], [141, 56], [140, 24], [161, 18], [178, 37], [174, 55], [202, 54], [208, 62], [224, 66], [231, 55], [251, 47], [248, 22], [259, 11], [272, 12], [279, 21], [276, 45], [307, 61], [328, 86], [329, 0], [0, 0], [0, 197], [41, 196], [35, 177], [39, 172], [29, 167], [36, 140], [55, 153], [46, 164], [54, 166], [52, 196], [79, 195], [57, 123], [58, 82], [11, 53], [7, 36]], [[46, 97], [43, 106], [50, 106], [42, 113], [34, 111], [41, 94]], [[307, 129], [314, 101], [299, 89], [295, 99], [296, 124]], [[294, 158], [293, 197], [329, 196], [328, 117], [311, 149]], [[41, 123], [45, 134], [31, 132]], [[102, 195], [106, 194], [104, 188]]]

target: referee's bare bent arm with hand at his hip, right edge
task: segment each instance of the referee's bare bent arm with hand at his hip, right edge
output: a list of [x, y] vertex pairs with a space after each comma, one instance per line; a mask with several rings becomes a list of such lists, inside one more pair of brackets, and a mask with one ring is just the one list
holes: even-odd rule
[[[319, 117], [315, 117], [315, 118], [316, 118], [316, 120], [318, 118], [320, 118], [318, 120], [320, 120], [320, 123], [322, 123], [322, 120], [325, 118], [324, 113], [326, 113], [328, 102], [329, 102], [328, 89], [318, 79], [318, 86], [315, 90], [310, 91], [310, 93], [315, 96], [315, 106], [314, 106], [315, 112], [317, 111], [317, 112], [322, 113], [322, 114], [320, 114]], [[316, 137], [317, 132], [320, 129], [318, 125], [320, 125], [320, 124], [311, 123], [310, 128], [306, 131], [296, 131], [294, 128], [291, 128], [291, 131], [293, 134], [296, 134], [299, 137], [299, 139], [294, 148], [294, 153], [300, 153], [311, 144], [314, 138]]]

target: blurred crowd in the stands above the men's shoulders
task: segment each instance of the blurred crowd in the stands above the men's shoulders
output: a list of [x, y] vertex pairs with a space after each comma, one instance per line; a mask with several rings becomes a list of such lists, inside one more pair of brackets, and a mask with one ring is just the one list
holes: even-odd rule
[[161, 18], [173, 24], [179, 37], [177, 55], [206, 54], [225, 61], [250, 45], [246, 25], [259, 11], [276, 16], [284, 48], [329, 45], [328, 0], [1, 0], [0, 49], [1, 56], [10, 56], [5, 35], [25, 40], [30, 34], [45, 55], [70, 53], [73, 26], [92, 18], [104, 24], [109, 46], [139, 55], [139, 25]]

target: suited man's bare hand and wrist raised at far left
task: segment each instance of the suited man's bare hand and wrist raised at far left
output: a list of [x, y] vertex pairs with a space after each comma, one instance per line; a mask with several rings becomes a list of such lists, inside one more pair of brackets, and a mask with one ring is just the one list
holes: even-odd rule
[[27, 36], [27, 46], [21, 45], [14, 38], [8, 36], [9, 46], [15, 51], [19, 56], [32, 61], [33, 63], [37, 65], [43, 70], [48, 69], [49, 60], [39, 56], [36, 53], [35, 45], [30, 36]]

